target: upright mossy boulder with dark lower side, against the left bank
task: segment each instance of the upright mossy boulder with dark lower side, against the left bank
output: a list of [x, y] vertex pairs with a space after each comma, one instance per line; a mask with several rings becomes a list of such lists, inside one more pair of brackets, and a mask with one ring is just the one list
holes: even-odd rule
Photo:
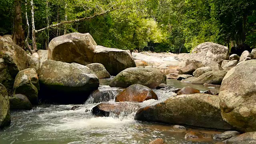
[[39, 82], [36, 70], [28, 68], [20, 71], [14, 81], [13, 94], [24, 94], [31, 104], [38, 104]]

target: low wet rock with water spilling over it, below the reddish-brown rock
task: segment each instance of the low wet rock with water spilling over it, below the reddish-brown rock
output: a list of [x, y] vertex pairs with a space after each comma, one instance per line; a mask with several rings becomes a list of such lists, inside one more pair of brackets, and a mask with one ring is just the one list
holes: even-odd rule
[[140, 105], [134, 102], [103, 102], [98, 104], [94, 108], [92, 108], [92, 114], [96, 116], [109, 116], [110, 113], [115, 115], [120, 115], [122, 113], [123, 116], [127, 116], [132, 112], [138, 110]]

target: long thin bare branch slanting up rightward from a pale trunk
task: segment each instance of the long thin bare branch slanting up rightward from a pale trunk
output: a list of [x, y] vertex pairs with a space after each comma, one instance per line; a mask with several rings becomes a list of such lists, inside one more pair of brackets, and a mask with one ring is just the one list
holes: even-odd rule
[[58, 24], [53, 24], [53, 25], [47, 26], [46, 28], [42, 28], [40, 30], [36, 30], [35, 32], [38, 33], [38, 32], [42, 32], [42, 31], [44, 31], [46, 29], [58, 27], [58, 26], [61, 26], [61, 25], [64, 25], [64, 24], [70, 24], [70, 23], [73, 23], [73, 22], [80, 22], [80, 21], [89, 20], [89, 19], [95, 18], [97, 16], [102, 16], [104, 14], [107, 14], [107, 13], [113, 11], [113, 10], [116, 10], [116, 8], [113, 8], [113, 6], [112, 6], [110, 9], [108, 9], [108, 10], [106, 10], [106, 11], [100, 13], [100, 14], [95, 14], [94, 16], [90, 16], [90, 17], [87, 17], [87, 18], [80, 18], [80, 19], [77, 19], [77, 20], [63, 21], [63, 22], [60, 22]]

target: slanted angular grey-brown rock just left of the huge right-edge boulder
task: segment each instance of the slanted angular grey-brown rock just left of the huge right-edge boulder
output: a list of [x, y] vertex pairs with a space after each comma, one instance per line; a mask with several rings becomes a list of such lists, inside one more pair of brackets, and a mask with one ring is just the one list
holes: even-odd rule
[[192, 84], [218, 84], [220, 85], [224, 76], [226, 75], [226, 71], [222, 70], [222, 71], [217, 71], [217, 72], [206, 72], [204, 74], [202, 74], [201, 76], [199, 76], [198, 78], [196, 78], [195, 80], [193, 80], [191, 83]]

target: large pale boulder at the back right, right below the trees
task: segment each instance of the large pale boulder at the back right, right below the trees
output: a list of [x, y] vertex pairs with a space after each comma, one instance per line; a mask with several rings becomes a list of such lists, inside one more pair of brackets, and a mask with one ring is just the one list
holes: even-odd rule
[[[218, 62], [218, 60], [227, 60], [229, 58], [229, 50], [226, 46], [221, 46], [212, 42], [205, 42], [199, 44], [192, 50], [191, 56], [186, 60], [186, 65], [196, 64], [198, 68], [207, 66], [203, 64], [203, 61], [208, 59], [212, 62]], [[212, 69], [213, 70], [213, 69]]]

